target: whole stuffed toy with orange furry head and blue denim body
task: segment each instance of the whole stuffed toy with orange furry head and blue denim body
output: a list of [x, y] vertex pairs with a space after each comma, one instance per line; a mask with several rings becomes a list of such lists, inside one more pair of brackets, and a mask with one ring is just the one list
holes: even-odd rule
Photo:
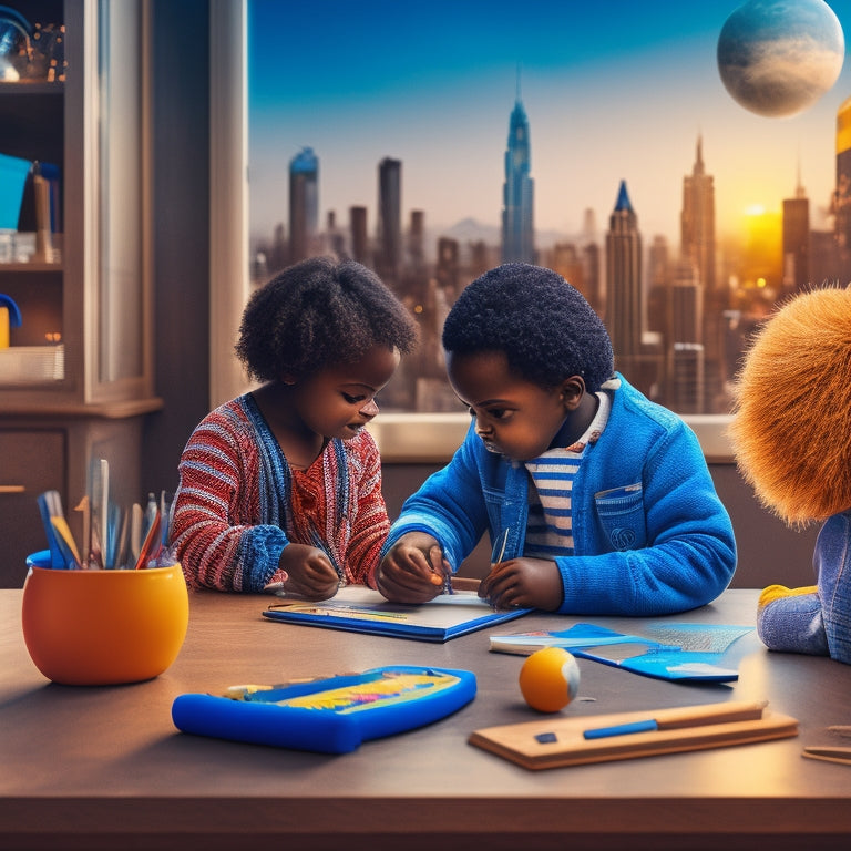
[[823, 525], [816, 585], [772, 585], [757, 630], [770, 649], [851, 664], [851, 289], [792, 298], [762, 327], [736, 383], [730, 438], [760, 502]]

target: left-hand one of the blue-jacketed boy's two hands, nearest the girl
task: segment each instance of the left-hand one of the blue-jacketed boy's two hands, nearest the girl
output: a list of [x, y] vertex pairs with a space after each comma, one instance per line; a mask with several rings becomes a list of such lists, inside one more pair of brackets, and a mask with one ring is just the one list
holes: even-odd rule
[[402, 535], [376, 571], [376, 587], [394, 603], [428, 603], [452, 572], [438, 541], [426, 532]]

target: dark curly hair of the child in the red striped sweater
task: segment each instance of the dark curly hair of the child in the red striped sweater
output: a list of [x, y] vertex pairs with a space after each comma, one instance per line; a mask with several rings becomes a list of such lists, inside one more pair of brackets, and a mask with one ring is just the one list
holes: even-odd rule
[[417, 322], [373, 271], [312, 257], [252, 295], [236, 355], [250, 377], [277, 381], [351, 363], [376, 345], [407, 355], [416, 342]]

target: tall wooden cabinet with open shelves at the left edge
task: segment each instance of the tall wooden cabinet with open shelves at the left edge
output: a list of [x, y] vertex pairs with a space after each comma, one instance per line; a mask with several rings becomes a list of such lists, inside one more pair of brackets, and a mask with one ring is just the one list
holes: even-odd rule
[[[0, 154], [60, 171], [61, 230], [50, 250], [33, 255], [34, 233], [18, 233], [11, 257], [8, 238], [0, 253], [0, 294], [22, 319], [0, 349], [0, 540], [9, 553], [0, 587], [19, 587], [23, 557], [44, 546], [43, 490], [60, 492], [72, 529], [92, 458], [109, 459], [117, 499], [143, 496], [142, 420], [162, 401], [153, 387], [148, 4], [3, 6], [42, 35], [64, 28], [50, 79], [0, 80]], [[20, 224], [27, 232], [23, 213]]]

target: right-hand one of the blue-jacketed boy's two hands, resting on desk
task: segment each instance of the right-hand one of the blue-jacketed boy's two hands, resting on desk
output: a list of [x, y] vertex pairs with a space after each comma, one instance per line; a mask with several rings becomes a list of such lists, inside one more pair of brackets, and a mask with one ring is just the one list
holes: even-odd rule
[[479, 596], [494, 608], [540, 608], [554, 612], [562, 604], [562, 577], [555, 562], [510, 558], [491, 566]]

